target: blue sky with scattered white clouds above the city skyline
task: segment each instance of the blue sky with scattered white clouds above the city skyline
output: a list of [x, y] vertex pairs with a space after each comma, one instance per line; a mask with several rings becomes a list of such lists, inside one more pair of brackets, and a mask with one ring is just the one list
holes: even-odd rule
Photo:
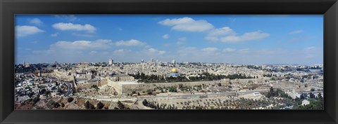
[[15, 63], [323, 64], [323, 15], [16, 15]]

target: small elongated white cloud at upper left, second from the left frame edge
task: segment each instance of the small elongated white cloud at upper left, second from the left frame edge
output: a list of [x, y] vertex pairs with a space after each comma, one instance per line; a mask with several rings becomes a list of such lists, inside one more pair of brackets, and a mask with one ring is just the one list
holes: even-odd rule
[[89, 33], [95, 32], [96, 28], [93, 27], [92, 25], [85, 24], [85, 25], [80, 25], [80, 24], [73, 24], [73, 23], [56, 23], [52, 25], [55, 29], [59, 29], [62, 31], [65, 30], [73, 30], [73, 31], [87, 31]]

